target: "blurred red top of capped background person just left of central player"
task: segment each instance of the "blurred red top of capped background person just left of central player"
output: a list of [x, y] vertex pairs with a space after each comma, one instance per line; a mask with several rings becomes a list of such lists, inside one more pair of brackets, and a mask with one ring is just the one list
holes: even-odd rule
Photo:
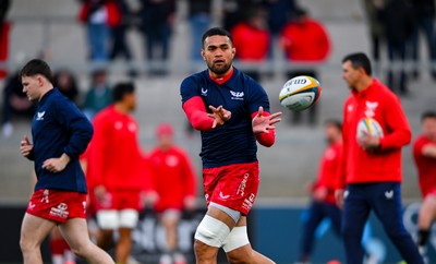
[[187, 155], [179, 147], [156, 147], [148, 156], [152, 182], [159, 200], [155, 209], [182, 209], [184, 199], [196, 195], [196, 175]]

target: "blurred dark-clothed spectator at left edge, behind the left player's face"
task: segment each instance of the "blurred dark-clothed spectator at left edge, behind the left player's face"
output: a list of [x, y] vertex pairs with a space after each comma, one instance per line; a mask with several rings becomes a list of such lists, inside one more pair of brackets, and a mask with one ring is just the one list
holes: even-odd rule
[[2, 133], [9, 137], [13, 133], [12, 116], [24, 116], [32, 119], [36, 105], [28, 100], [23, 93], [23, 85], [19, 72], [10, 75], [3, 88], [3, 111], [2, 111]]

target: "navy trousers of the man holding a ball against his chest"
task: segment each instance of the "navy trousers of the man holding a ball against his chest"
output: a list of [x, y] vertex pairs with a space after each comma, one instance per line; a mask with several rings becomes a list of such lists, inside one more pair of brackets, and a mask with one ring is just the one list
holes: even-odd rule
[[423, 264], [402, 223], [401, 190], [398, 182], [356, 183], [347, 187], [342, 233], [348, 264], [362, 264], [362, 233], [371, 211], [407, 263]]

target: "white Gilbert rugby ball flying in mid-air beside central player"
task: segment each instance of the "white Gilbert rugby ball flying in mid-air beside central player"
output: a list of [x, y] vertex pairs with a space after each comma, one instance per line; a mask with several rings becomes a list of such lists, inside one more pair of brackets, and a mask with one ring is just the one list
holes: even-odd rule
[[296, 76], [284, 83], [279, 100], [290, 110], [302, 111], [313, 106], [320, 96], [322, 87], [318, 80], [311, 76]]

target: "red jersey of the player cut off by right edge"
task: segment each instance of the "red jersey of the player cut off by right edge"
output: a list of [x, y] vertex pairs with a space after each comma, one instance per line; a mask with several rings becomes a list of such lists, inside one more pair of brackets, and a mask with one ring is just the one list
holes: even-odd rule
[[424, 146], [436, 142], [431, 141], [425, 135], [421, 135], [413, 144], [413, 158], [415, 160], [420, 188], [423, 196], [436, 189], [436, 158], [426, 157], [422, 154]]

